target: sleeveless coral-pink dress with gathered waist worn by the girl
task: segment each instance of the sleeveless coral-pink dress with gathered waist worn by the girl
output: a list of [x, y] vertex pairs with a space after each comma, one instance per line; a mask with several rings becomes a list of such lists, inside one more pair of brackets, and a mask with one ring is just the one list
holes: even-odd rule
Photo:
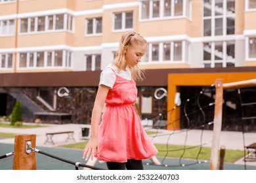
[[98, 129], [101, 161], [127, 162], [147, 159], [158, 153], [144, 131], [135, 107], [135, 81], [116, 75], [116, 82], [106, 97], [106, 108]]

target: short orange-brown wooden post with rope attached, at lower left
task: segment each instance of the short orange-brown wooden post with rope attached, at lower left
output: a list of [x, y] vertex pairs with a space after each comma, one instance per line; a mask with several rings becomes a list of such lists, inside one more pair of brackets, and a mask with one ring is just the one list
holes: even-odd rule
[[35, 148], [35, 135], [15, 135], [14, 137], [14, 170], [35, 170], [36, 156], [35, 152], [26, 153], [26, 143], [30, 141], [31, 146]]

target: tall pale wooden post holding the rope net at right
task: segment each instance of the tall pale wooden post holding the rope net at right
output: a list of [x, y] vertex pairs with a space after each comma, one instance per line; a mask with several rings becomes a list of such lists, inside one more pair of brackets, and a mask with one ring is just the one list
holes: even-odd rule
[[215, 110], [213, 124], [213, 143], [211, 146], [210, 169], [217, 170], [219, 140], [221, 136], [221, 124], [223, 118], [223, 79], [217, 79], [215, 82]]

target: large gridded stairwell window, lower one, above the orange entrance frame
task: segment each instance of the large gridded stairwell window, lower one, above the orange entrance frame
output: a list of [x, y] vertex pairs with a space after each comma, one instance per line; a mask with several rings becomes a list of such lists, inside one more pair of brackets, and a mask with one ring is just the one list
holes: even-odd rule
[[203, 63], [205, 67], [234, 67], [234, 41], [205, 42]]

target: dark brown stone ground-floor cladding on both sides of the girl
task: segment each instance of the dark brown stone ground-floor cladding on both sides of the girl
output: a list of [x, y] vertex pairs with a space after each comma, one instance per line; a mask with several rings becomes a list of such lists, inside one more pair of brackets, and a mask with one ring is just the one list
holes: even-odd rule
[[[138, 87], [138, 95], [148, 92], [152, 96], [152, 114], [142, 115], [143, 118], [152, 119], [154, 123], [158, 120], [159, 114], [163, 114], [163, 120], [166, 120], [167, 97], [161, 100], [154, 98], [154, 91], [158, 87]], [[58, 88], [55, 88], [56, 90]], [[7, 110], [5, 116], [9, 116], [15, 105], [14, 99], [9, 93], [24, 93], [39, 107], [43, 108], [48, 114], [28, 111], [28, 108], [22, 107], [22, 118], [26, 122], [34, 122], [35, 118], [40, 118], [45, 124], [91, 124], [91, 113], [96, 97], [96, 87], [68, 87], [69, 95], [67, 97], [58, 97], [56, 95], [56, 111], [51, 111], [37, 99], [39, 88], [0, 88], [0, 93], [7, 95]]]

